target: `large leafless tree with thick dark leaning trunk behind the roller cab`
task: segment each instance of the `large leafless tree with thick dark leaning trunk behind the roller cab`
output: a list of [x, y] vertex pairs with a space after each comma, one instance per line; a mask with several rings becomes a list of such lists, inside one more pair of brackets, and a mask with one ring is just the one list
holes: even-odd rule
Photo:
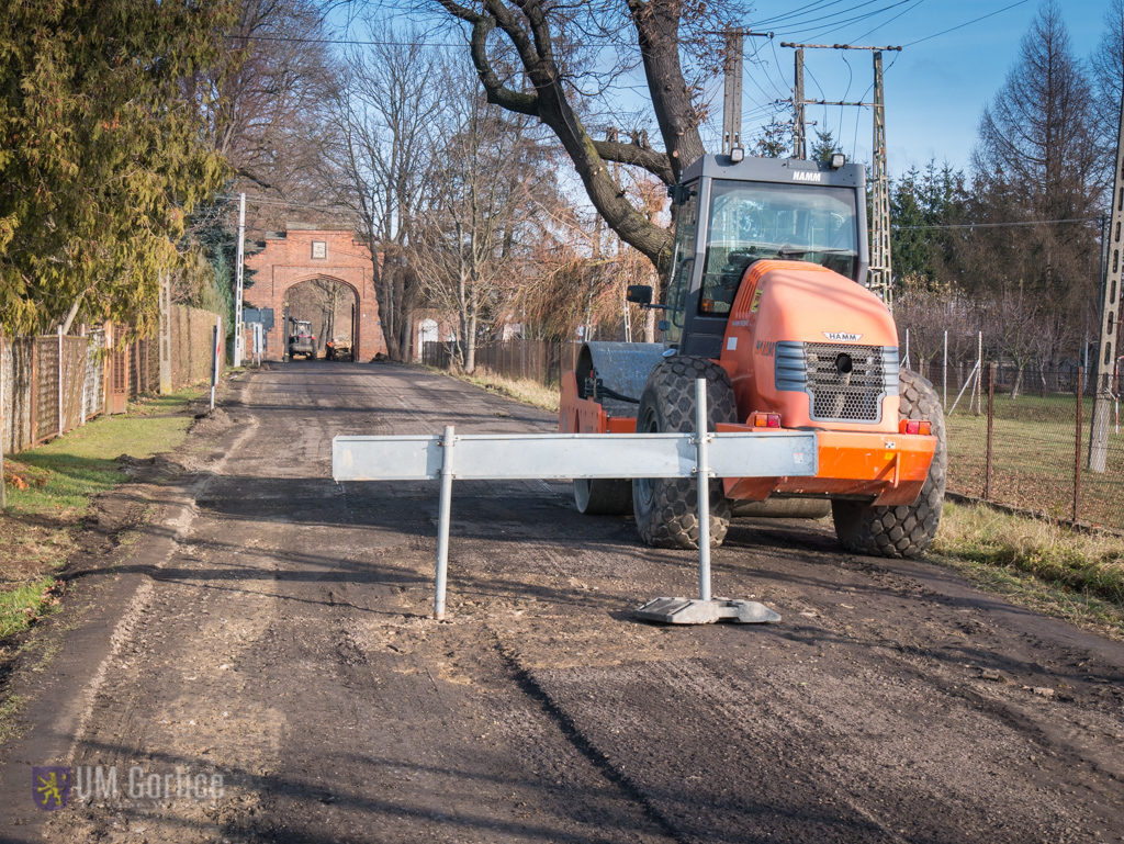
[[[718, 66], [715, 30], [740, 17], [741, 6], [688, 4], [681, 0], [433, 2], [468, 25], [469, 51], [488, 101], [536, 117], [550, 127], [609, 227], [653, 264], [664, 267], [670, 261], [669, 232], [622, 196], [606, 163], [640, 167], [673, 184], [683, 169], [703, 155], [699, 125], [705, 112], [697, 101], [699, 88], [688, 81], [682, 57], [705, 56], [692, 69], [704, 74]], [[492, 37], [493, 33], [501, 33], [502, 38]], [[653, 148], [640, 131], [633, 133], [632, 143], [598, 140], [582, 122], [581, 111], [590, 94], [583, 83], [596, 89], [607, 82], [592, 70], [598, 47], [616, 51], [620, 57], [616, 72], [637, 63], [643, 66], [662, 151]], [[520, 84], [523, 78], [528, 85]]]

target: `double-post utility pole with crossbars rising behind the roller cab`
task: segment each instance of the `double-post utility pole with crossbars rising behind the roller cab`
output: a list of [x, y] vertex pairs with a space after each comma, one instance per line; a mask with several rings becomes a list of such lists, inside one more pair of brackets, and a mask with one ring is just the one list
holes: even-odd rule
[[[868, 287], [877, 294], [887, 308], [894, 306], [894, 287], [890, 266], [890, 178], [886, 164], [886, 89], [882, 84], [882, 53], [900, 52], [901, 47], [865, 47], [853, 44], [794, 44], [781, 42], [782, 47], [796, 51], [796, 85], [792, 91], [792, 157], [807, 157], [806, 106], [860, 106], [874, 109], [874, 136], [871, 166], [870, 219], [870, 272]], [[805, 49], [869, 49], [874, 54], [874, 101], [873, 102], [831, 102], [827, 100], [806, 100], [804, 98], [804, 51]]]

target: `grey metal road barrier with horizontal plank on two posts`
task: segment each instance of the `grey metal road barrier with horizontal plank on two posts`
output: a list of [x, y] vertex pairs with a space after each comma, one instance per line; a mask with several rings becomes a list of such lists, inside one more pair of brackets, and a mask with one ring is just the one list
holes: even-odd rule
[[[694, 478], [698, 482], [699, 598], [655, 598], [636, 615], [668, 624], [778, 621], [756, 601], [711, 598], [709, 483], [711, 478], [812, 477], [815, 432], [706, 430], [706, 383], [696, 382], [696, 433], [683, 434], [444, 434], [337, 436], [335, 481], [441, 481], [434, 618], [445, 617], [453, 480], [569, 480]], [[455, 455], [454, 455], [455, 452]]]

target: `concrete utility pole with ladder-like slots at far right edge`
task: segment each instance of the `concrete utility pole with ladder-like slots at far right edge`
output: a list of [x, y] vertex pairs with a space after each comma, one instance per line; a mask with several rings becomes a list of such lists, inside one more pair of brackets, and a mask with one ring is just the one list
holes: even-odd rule
[[1108, 462], [1108, 424], [1112, 417], [1112, 378], [1116, 364], [1117, 297], [1124, 280], [1124, 100], [1121, 101], [1121, 121], [1116, 136], [1116, 170], [1113, 178], [1112, 220], [1108, 224], [1108, 248], [1104, 283], [1100, 285], [1100, 342], [1097, 344], [1096, 398], [1093, 402], [1093, 427], [1089, 432], [1089, 471], [1104, 472]]

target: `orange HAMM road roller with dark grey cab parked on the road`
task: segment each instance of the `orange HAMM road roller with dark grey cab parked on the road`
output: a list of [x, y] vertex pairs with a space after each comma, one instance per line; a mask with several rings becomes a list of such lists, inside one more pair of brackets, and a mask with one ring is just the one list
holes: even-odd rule
[[[932, 385], [899, 369], [897, 329], [865, 288], [862, 165], [707, 155], [672, 190], [676, 236], [663, 343], [588, 343], [562, 383], [560, 428], [688, 430], [705, 378], [715, 430], [815, 429], [813, 478], [715, 482], [710, 535], [731, 514], [825, 515], [852, 551], [924, 550], [944, 492], [944, 420]], [[649, 543], [691, 547], [673, 479], [579, 481], [584, 512], [627, 512]], [[795, 503], [804, 501], [804, 505]], [[754, 509], [755, 508], [755, 509]]]

